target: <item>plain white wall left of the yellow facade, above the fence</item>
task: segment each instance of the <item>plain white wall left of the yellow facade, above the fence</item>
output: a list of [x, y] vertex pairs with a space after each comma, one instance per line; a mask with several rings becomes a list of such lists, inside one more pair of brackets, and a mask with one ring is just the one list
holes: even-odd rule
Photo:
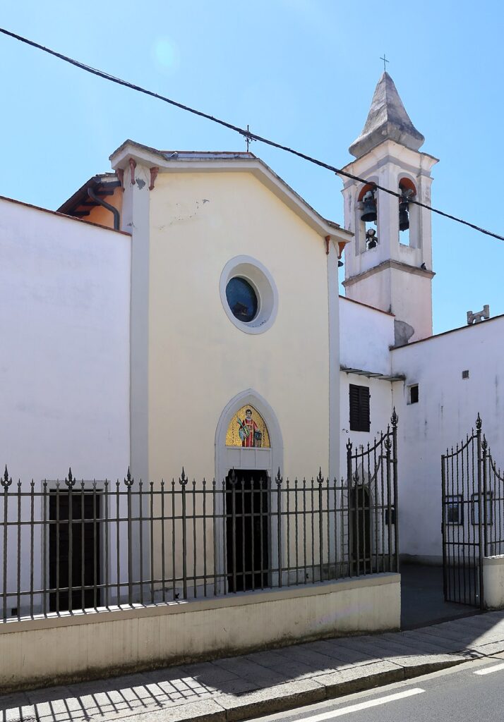
[[0, 259], [2, 468], [124, 476], [129, 235], [0, 199]]

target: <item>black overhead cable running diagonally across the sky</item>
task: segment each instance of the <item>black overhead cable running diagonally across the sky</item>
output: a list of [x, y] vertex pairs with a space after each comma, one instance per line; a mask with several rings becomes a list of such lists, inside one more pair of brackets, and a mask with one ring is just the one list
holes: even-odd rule
[[[123, 85], [124, 87], [127, 87], [130, 90], [136, 90], [137, 92], [143, 93], [143, 95], [150, 95], [150, 97], [155, 97], [158, 100], [163, 100], [163, 103], [169, 103], [169, 105], [174, 105], [175, 108], [180, 108], [181, 110], [185, 110], [185, 111], [187, 111], [187, 113], [192, 113], [195, 116], [200, 116], [200, 118], [206, 118], [208, 121], [213, 121], [213, 123], [218, 123], [218, 125], [221, 125], [224, 128], [228, 128], [231, 131], [235, 131], [236, 133], [239, 133], [240, 135], [244, 136], [245, 139], [257, 140], [260, 143], [264, 143], [265, 145], [269, 145], [273, 148], [278, 148], [279, 150], [283, 150], [286, 153], [291, 153], [291, 155], [296, 155], [297, 157], [302, 158], [303, 160], [307, 160], [308, 162], [313, 163], [314, 165], [320, 166], [320, 168], [326, 168], [327, 170], [331, 170], [333, 173], [336, 173], [336, 175], [343, 175], [345, 178], [350, 178], [352, 181], [357, 181], [358, 183], [368, 183], [369, 182], [369, 181], [367, 181], [366, 178], [360, 178], [359, 175], [353, 175], [352, 173], [348, 173], [348, 171], [346, 171], [346, 170], [341, 170], [341, 168], [336, 168], [336, 166], [330, 165], [330, 163], [326, 163], [323, 160], [318, 160], [317, 158], [314, 158], [311, 155], [307, 155], [306, 153], [302, 153], [299, 150], [290, 148], [289, 146], [283, 145], [281, 143], [277, 143], [273, 140], [270, 140], [269, 138], [265, 138], [263, 136], [257, 135], [256, 133], [252, 133], [252, 131], [250, 131], [248, 129], [248, 127], [247, 127], [247, 129], [240, 128], [239, 126], [233, 125], [233, 123], [228, 123], [227, 121], [223, 121], [221, 118], [216, 118], [215, 116], [210, 116], [210, 113], [204, 113], [202, 110], [197, 110], [196, 108], [191, 108], [189, 105], [184, 105], [184, 103], [178, 103], [176, 100], [173, 100], [170, 97], [166, 97], [166, 95], [159, 95], [159, 93], [154, 92], [153, 90], [148, 90], [147, 88], [144, 88], [140, 85], [135, 85], [134, 83], [130, 83], [127, 80], [118, 78], [118, 77], [111, 75], [110, 73], [107, 73], [103, 70], [93, 68], [90, 65], [86, 65], [85, 63], [81, 63], [78, 60], [74, 60], [74, 58], [69, 58], [69, 56], [63, 55], [62, 53], [57, 53], [56, 51], [51, 50], [51, 48], [46, 48], [44, 45], [35, 43], [34, 40], [29, 40], [28, 38], [23, 38], [22, 35], [17, 35], [16, 32], [11, 32], [10, 30], [6, 30], [4, 27], [0, 27], [0, 32], [3, 33], [4, 35], [8, 35], [9, 38], [14, 38], [15, 40], [20, 40], [21, 43], [25, 43], [26, 45], [31, 45], [33, 48], [37, 48], [38, 50], [41, 50], [44, 53], [48, 53], [49, 55], [52, 55], [55, 58], [59, 58], [60, 60], [63, 60], [65, 63], [69, 63], [70, 65], [74, 65], [75, 67], [80, 68], [81, 70], [85, 70], [87, 73], [97, 75], [100, 78], [109, 80], [110, 82], [116, 83], [118, 85]], [[398, 193], [397, 191], [393, 191], [390, 188], [385, 188], [384, 186], [380, 186], [380, 185], [378, 185], [378, 183], [373, 183], [373, 186], [375, 186], [375, 188], [377, 188], [377, 190], [379, 190], [379, 191], [384, 191], [384, 193], [389, 193], [391, 196], [396, 196], [396, 198], [402, 197], [402, 193]], [[477, 226], [474, 223], [464, 220], [463, 218], [458, 218], [457, 216], [453, 216], [450, 213], [445, 213], [444, 211], [441, 211], [438, 208], [434, 208], [433, 206], [428, 206], [427, 204], [422, 203], [421, 201], [417, 201], [414, 199], [408, 199], [408, 201], [409, 201], [409, 203], [413, 203], [416, 206], [421, 206], [422, 208], [427, 208], [428, 210], [432, 211], [432, 213], [437, 213], [440, 216], [449, 218], [450, 220], [453, 220], [458, 223], [462, 223], [463, 225], [469, 226], [469, 228], [473, 228], [474, 230], [477, 230], [480, 233], [484, 233], [485, 235], [490, 235], [490, 236], [492, 236], [492, 238], [497, 238], [498, 240], [504, 240], [503, 235], [499, 235], [498, 233], [494, 233], [490, 230], [486, 230], [485, 228]]]

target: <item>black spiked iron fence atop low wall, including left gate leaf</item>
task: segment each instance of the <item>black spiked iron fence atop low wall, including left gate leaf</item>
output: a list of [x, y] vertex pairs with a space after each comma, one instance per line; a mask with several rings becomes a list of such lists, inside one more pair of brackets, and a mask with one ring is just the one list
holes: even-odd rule
[[0, 620], [396, 571], [392, 427], [347, 445], [347, 479], [31, 482], [0, 493]]

